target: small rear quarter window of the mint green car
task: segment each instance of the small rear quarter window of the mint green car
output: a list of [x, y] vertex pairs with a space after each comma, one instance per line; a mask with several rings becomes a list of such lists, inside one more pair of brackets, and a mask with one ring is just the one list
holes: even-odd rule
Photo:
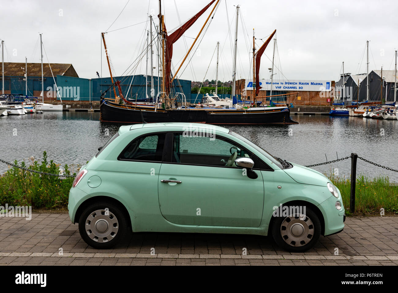
[[118, 160], [162, 162], [165, 138], [165, 133], [140, 136], [127, 145]]

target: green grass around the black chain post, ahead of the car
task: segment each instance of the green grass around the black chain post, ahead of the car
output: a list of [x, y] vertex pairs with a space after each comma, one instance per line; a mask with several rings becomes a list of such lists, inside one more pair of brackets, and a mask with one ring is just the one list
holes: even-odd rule
[[[350, 215], [350, 179], [328, 176], [332, 183], [340, 190], [343, 205], [347, 215]], [[368, 178], [364, 175], [357, 176], [355, 186], [355, 213], [398, 213], [398, 186], [386, 176]]]

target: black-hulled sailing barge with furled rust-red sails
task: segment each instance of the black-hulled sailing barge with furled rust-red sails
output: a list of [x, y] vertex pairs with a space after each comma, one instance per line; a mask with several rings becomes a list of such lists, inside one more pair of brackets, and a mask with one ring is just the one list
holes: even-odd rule
[[[185, 103], [184, 107], [175, 107], [174, 101], [175, 98], [169, 98], [171, 96], [171, 84], [173, 80], [176, 78], [179, 68], [181, 68], [182, 61], [180, 67], [174, 76], [171, 74], [171, 59], [173, 53], [173, 43], [175, 43], [179, 37], [183, 35], [183, 33], [201, 16], [213, 3], [215, 0], [211, 1], [205, 8], [203, 8], [200, 12], [198, 12], [195, 16], [185, 22], [179, 29], [176, 29], [172, 34], [168, 35], [166, 31], [166, 27], [164, 24], [164, 16], [162, 15], [161, 6], [159, 2], [159, 19], [160, 19], [160, 37], [162, 43], [162, 92], [158, 94], [160, 96], [160, 100], [156, 98], [156, 102], [154, 105], [142, 105], [137, 103], [132, 103], [127, 101], [123, 93], [121, 91], [120, 82], [113, 82], [113, 76], [109, 64], [109, 56], [106, 49], [104, 34], [102, 33], [103, 44], [105, 47], [105, 53], [108, 60], [109, 72], [111, 73], [111, 81], [113, 87], [113, 92], [115, 94], [115, 99], [104, 98], [105, 91], [103, 96], [101, 96], [100, 100], [100, 121], [109, 122], [109, 123], [142, 123], [143, 121], [147, 123], [156, 123], [156, 122], [188, 122], [188, 123], [210, 123], [210, 124], [297, 124], [297, 122], [291, 120], [290, 118], [290, 110], [287, 105], [280, 107], [253, 107], [253, 108], [242, 108], [236, 109], [232, 108], [224, 108], [224, 109], [203, 109], [203, 108], [191, 108]], [[215, 10], [219, 3], [217, 3], [213, 7], [209, 17], [207, 18], [205, 24], [209, 20], [211, 14]], [[237, 17], [238, 17], [239, 7], [237, 7]], [[152, 25], [152, 18], [151, 18]], [[202, 29], [203, 29], [202, 27]], [[237, 33], [237, 29], [236, 29]], [[275, 31], [274, 31], [275, 33]], [[200, 33], [199, 33], [200, 34]], [[265, 47], [269, 43], [269, 40], [273, 34], [269, 37], [267, 42], [261, 47], [259, 51], [261, 53], [264, 51]], [[199, 37], [199, 35], [198, 35]], [[195, 39], [196, 41], [196, 39]], [[194, 41], [194, 43], [195, 43]], [[151, 42], [152, 43], [152, 42]], [[193, 47], [193, 45], [192, 45]], [[191, 47], [191, 48], [192, 48]], [[236, 52], [236, 43], [235, 43], [235, 52]], [[261, 55], [261, 54], [260, 54]], [[256, 62], [259, 66], [259, 55], [258, 62]], [[235, 55], [236, 59], [236, 55]], [[256, 60], [257, 61], [257, 60]], [[236, 61], [235, 61], [236, 62]], [[236, 63], [234, 64], [234, 80], [233, 85], [235, 84], [235, 76], [236, 76]], [[256, 71], [256, 77], [258, 78], [258, 71]], [[151, 82], [152, 84], [152, 82]], [[259, 84], [257, 84], [258, 89], [256, 90], [256, 96], [258, 95]], [[119, 90], [119, 96], [116, 94], [116, 89]], [[110, 89], [110, 88], [109, 88]], [[109, 90], [108, 89], [108, 90]], [[235, 96], [234, 93], [235, 87], [233, 86], [232, 96]], [[179, 93], [175, 93], [178, 95]], [[159, 103], [158, 103], [159, 102]], [[158, 105], [162, 105], [162, 107], [158, 107]]]

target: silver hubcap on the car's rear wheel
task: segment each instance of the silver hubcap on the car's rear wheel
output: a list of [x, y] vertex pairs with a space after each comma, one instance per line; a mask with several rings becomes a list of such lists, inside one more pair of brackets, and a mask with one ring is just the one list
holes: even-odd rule
[[86, 233], [94, 241], [104, 243], [115, 238], [119, 230], [119, 222], [113, 213], [98, 209], [86, 219]]

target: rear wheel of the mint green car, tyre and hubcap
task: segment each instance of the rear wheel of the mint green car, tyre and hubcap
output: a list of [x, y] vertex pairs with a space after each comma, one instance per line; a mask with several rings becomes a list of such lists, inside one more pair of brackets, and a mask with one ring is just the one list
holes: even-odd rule
[[126, 231], [127, 219], [123, 210], [107, 201], [89, 205], [79, 219], [80, 236], [94, 248], [112, 248], [124, 238]]

